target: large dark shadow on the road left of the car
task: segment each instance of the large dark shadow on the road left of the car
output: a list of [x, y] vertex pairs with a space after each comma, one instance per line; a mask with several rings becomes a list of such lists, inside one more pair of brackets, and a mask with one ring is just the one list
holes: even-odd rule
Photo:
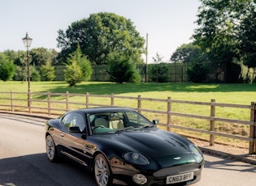
[[0, 185], [96, 185], [85, 168], [65, 160], [50, 163], [46, 154], [0, 159]]

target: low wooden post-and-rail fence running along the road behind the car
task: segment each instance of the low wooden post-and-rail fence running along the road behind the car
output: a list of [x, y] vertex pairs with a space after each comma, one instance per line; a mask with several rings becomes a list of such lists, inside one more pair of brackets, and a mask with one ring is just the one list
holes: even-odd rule
[[[20, 99], [20, 97], [22, 97]], [[15, 99], [15, 96], [19, 99]], [[76, 99], [74, 99], [76, 97]], [[79, 101], [77, 101], [79, 99]], [[100, 104], [96, 104], [91, 101], [93, 98], [100, 99], [103, 98]], [[219, 104], [215, 102], [215, 99], [211, 99], [210, 102], [196, 102], [196, 101], [185, 101], [185, 100], [174, 100], [171, 97], [167, 99], [152, 99], [152, 98], [143, 98], [141, 95], [137, 97], [128, 97], [120, 95], [90, 95], [86, 94], [70, 94], [66, 93], [41, 93], [41, 92], [4, 92], [0, 91], [0, 110], [8, 110], [11, 112], [23, 111], [23, 112], [42, 112], [46, 113], [49, 116], [56, 114], [56, 112], [67, 112], [75, 108], [90, 108], [90, 107], [106, 107], [106, 106], [117, 106], [115, 104], [116, 99], [128, 99], [129, 102], [136, 101], [136, 107], [134, 107], [138, 112], [151, 112], [154, 114], [162, 114], [166, 116], [166, 122], [160, 123], [159, 125], [167, 127], [167, 130], [170, 129], [182, 129], [185, 131], [193, 131], [196, 133], [204, 133], [209, 135], [210, 146], [215, 144], [215, 136], [219, 137], [229, 137], [232, 139], [237, 139], [241, 141], [249, 142], [249, 154], [256, 154], [256, 103], [251, 102], [250, 105], [241, 105], [241, 104]], [[145, 102], [154, 102], [154, 104], [162, 103], [166, 104], [165, 110], [153, 110], [149, 108], [143, 108], [142, 103]], [[173, 112], [173, 105], [175, 104], [192, 104], [199, 106], [207, 106], [210, 108], [210, 116], [200, 116], [184, 112]], [[40, 106], [42, 105], [42, 106]], [[73, 107], [73, 108], [72, 108]], [[215, 108], [242, 108], [247, 109], [250, 119], [249, 120], [235, 120], [228, 118], [221, 118], [215, 116]], [[182, 125], [174, 125], [171, 122], [172, 116], [188, 117], [188, 118], [197, 118], [200, 120], [208, 120], [210, 129], [195, 129]], [[249, 126], [249, 136], [234, 135], [228, 133], [220, 133], [215, 131], [215, 121], [228, 122], [233, 124], [247, 125]]]

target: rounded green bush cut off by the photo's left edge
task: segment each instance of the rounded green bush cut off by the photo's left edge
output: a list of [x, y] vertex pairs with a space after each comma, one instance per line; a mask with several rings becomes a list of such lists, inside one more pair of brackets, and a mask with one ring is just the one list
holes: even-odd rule
[[7, 55], [0, 55], [0, 79], [4, 82], [11, 80], [15, 74], [15, 65]]

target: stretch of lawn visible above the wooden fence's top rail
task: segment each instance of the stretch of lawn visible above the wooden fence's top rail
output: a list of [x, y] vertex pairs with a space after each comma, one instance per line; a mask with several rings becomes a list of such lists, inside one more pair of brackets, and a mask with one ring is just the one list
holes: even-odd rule
[[[2, 82], [1, 91], [28, 91], [27, 82]], [[76, 87], [68, 87], [66, 82], [31, 82], [32, 92], [56, 92], [91, 95], [127, 95], [147, 98], [206, 101], [215, 99], [225, 104], [250, 104], [256, 102], [256, 84], [188, 84], [188, 83], [123, 83], [82, 82]]]

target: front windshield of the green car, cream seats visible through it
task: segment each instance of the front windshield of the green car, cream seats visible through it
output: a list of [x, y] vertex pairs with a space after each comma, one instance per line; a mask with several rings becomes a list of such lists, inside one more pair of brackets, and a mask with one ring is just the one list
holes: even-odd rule
[[93, 133], [116, 133], [154, 126], [138, 112], [101, 112], [89, 115]]

